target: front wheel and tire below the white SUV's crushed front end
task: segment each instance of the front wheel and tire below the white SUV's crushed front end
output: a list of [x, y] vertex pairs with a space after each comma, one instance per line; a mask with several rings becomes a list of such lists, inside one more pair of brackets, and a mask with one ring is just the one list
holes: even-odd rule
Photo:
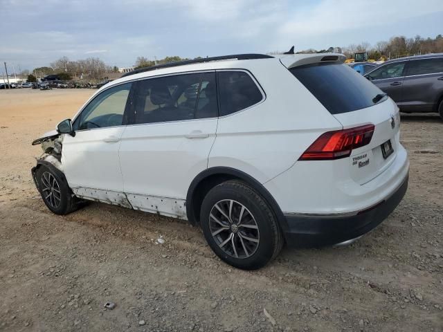
[[53, 213], [64, 215], [77, 210], [78, 199], [73, 196], [66, 178], [58, 169], [41, 165], [35, 171], [35, 179], [46, 207]]

